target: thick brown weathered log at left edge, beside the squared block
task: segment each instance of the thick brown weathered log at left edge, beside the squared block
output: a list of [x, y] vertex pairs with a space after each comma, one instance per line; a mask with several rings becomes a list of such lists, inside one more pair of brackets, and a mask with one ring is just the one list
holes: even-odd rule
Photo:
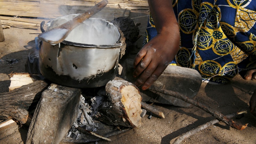
[[14, 118], [19, 123], [29, 125], [31, 118], [28, 109], [33, 109], [48, 83], [38, 80], [13, 91], [0, 94], [0, 119]]

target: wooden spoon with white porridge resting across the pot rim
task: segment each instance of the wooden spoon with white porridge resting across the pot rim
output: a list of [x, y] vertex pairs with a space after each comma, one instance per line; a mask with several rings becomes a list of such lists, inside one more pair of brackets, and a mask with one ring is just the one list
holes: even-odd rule
[[39, 34], [38, 38], [48, 43], [61, 43], [62, 41], [64, 41], [64, 39], [66, 39], [66, 37], [75, 27], [80, 25], [83, 21], [90, 18], [94, 14], [101, 11], [107, 5], [107, 3], [107, 0], [99, 2], [95, 6], [91, 7], [89, 10], [71, 19], [70, 21]]

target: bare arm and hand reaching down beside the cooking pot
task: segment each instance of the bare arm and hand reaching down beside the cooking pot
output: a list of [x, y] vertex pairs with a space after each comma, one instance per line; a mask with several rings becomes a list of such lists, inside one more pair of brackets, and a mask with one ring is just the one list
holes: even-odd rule
[[179, 50], [180, 33], [170, 0], [148, 0], [157, 35], [136, 55], [133, 76], [136, 86], [148, 89], [175, 58]]

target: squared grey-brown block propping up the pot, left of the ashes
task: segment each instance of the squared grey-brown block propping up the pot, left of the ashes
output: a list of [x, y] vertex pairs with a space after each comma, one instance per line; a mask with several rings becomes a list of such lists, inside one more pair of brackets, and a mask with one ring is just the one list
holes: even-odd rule
[[81, 89], [52, 83], [35, 109], [26, 143], [59, 143], [78, 117]]

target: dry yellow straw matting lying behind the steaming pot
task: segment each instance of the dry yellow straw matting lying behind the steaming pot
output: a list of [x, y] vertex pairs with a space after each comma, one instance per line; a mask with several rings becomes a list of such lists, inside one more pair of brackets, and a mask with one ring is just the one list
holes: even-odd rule
[[[45, 20], [83, 13], [101, 0], [0, 0], [0, 18], [3, 27], [39, 29]], [[130, 10], [149, 9], [146, 0], [108, 0], [106, 8], [93, 17], [112, 21], [129, 17]]]

